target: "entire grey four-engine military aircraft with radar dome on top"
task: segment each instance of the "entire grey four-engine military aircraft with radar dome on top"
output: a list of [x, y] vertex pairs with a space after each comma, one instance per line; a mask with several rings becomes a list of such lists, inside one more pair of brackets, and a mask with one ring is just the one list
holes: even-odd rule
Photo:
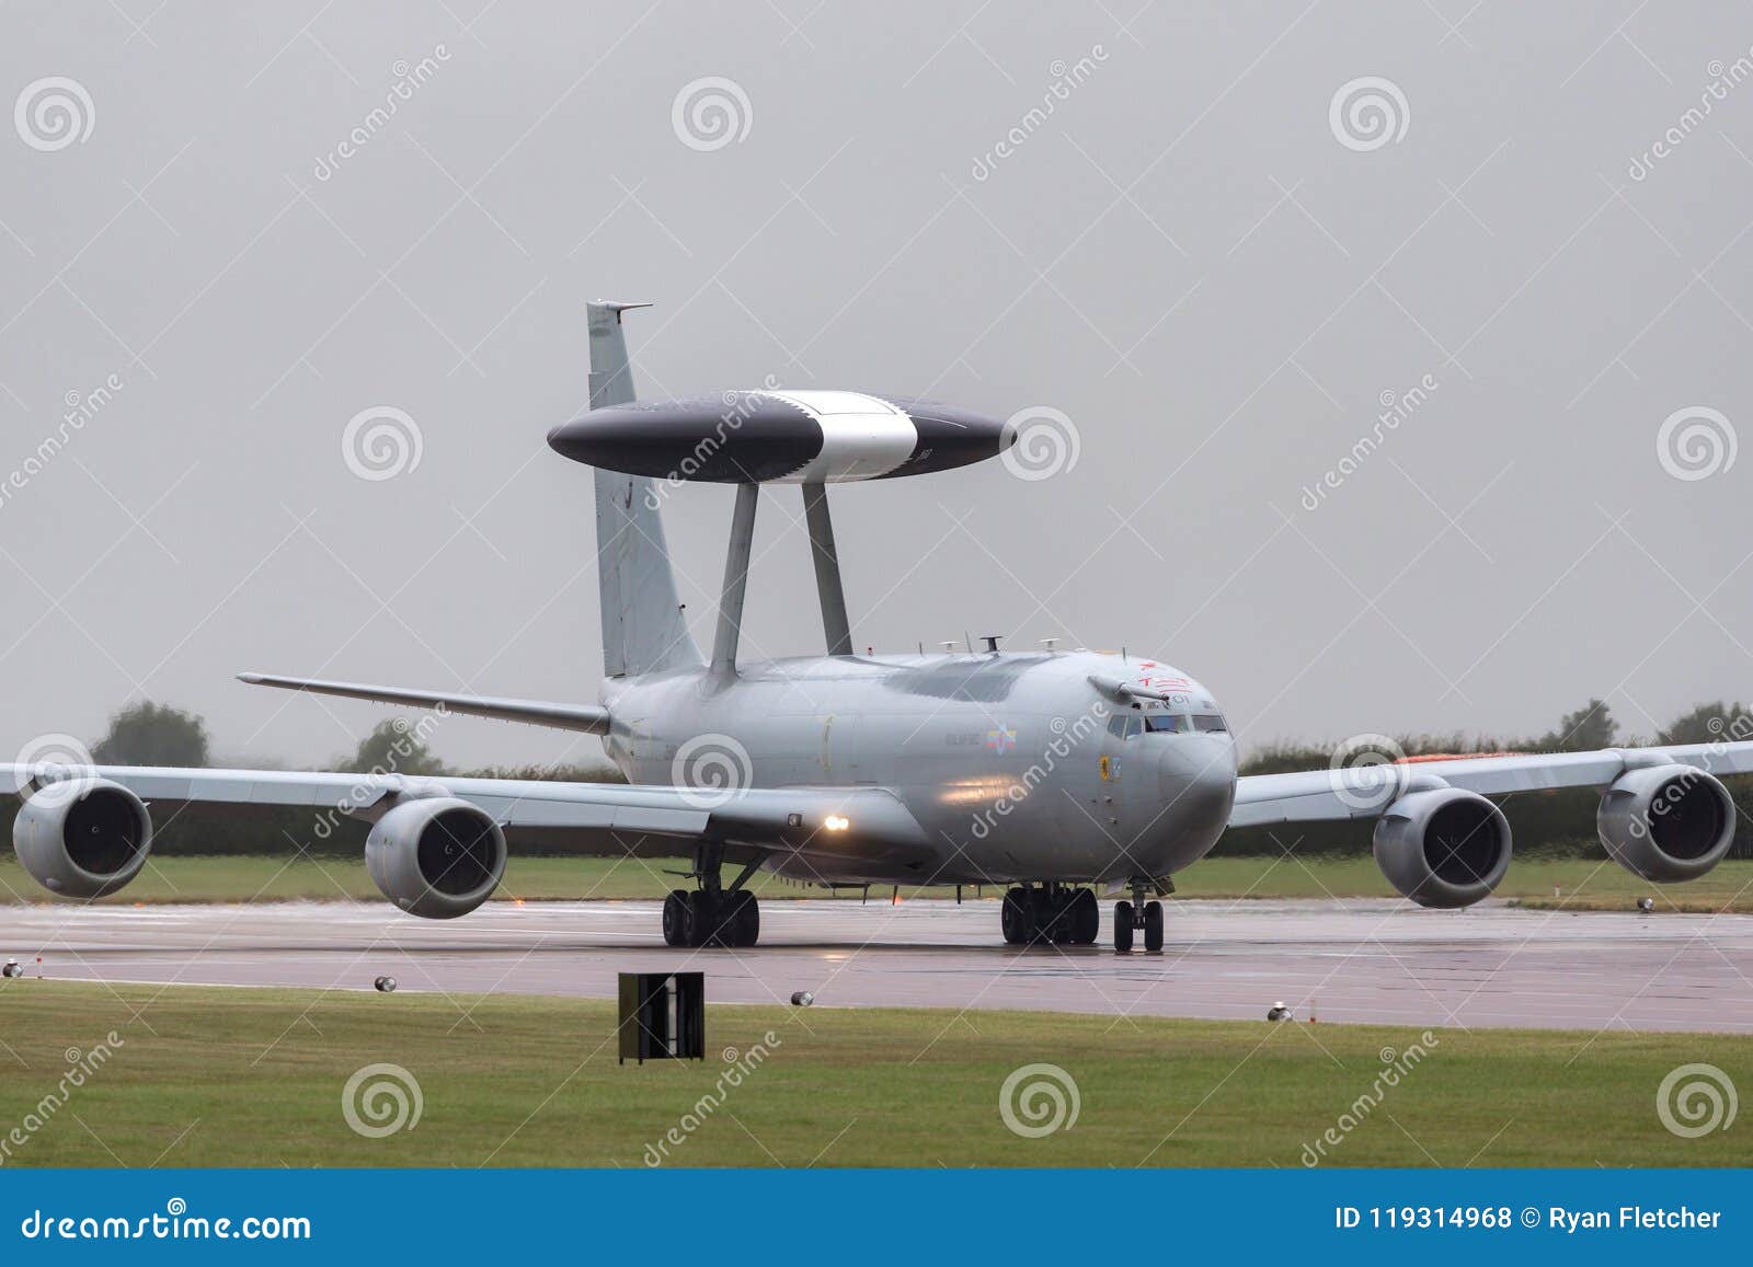
[[[244, 682], [598, 734], [629, 783], [0, 766], [23, 797], [14, 846], [53, 894], [93, 899], [147, 860], [147, 803], [295, 804], [372, 822], [365, 860], [384, 895], [424, 918], [487, 901], [510, 843], [580, 853], [687, 855], [663, 904], [671, 946], [754, 946], [749, 880], [996, 885], [1008, 943], [1090, 945], [1097, 888], [1125, 894], [1111, 938], [1160, 950], [1160, 897], [1229, 827], [1374, 820], [1374, 855], [1415, 902], [1467, 906], [1502, 880], [1509, 824], [1490, 797], [1606, 789], [1608, 852], [1653, 881], [1702, 876], [1728, 852], [1735, 808], [1718, 775], [1753, 771], [1753, 743], [1609, 748], [1238, 778], [1211, 690], [1127, 652], [852, 648], [827, 485], [905, 478], [1001, 456], [1015, 428], [966, 410], [845, 391], [727, 391], [636, 401], [622, 317], [589, 305], [589, 410], [549, 433], [596, 468], [601, 703], [500, 699], [351, 682]], [[736, 485], [710, 659], [684, 620], [661, 508], [689, 482]], [[761, 487], [799, 484], [826, 655], [738, 659]]]

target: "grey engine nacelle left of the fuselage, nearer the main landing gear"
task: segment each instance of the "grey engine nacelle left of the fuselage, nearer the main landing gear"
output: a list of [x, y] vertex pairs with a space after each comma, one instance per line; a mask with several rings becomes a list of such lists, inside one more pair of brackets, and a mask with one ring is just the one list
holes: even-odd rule
[[493, 897], [505, 874], [505, 832], [454, 796], [403, 801], [365, 841], [372, 880], [410, 915], [454, 920]]

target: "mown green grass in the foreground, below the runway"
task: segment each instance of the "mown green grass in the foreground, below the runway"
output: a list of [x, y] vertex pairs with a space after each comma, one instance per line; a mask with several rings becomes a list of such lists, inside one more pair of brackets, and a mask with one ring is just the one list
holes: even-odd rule
[[[135, 1018], [138, 1013], [138, 1018]], [[1281, 1165], [1313, 1144], [1416, 1030], [1043, 1013], [712, 1006], [708, 1058], [619, 1065], [607, 1002], [0, 983], [5, 1165], [628, 1165], [675, 1127], [678, 1165]], [[112, 1055], [40, 1127], [68, 1048]], [[766, 1041], [771, 1030], [777, 1041]], [[1657, 1087], [1683, 1062], [1746, 1085], [1753, 1039], [1439, 1030], [1329, 1144], [1339, 1165], [1749, 1165], [1744, 1123], [1669, 1134]], [[724, 1050], [766, 1057], [698, 1129]], [[1394, 1058], [1394, 1057], [1390, 1057]], [[1401, 1057], [1404, 1058], [1404, 1057]], [[379, 1062], [422, 1116], [354, 1134], [342, 1088]], [[1011, 1134], [999, 1088], [1026, 1064], [1075, 1079], [1075, 1127]], [[685, 1130], [685, 1134], [684, 1134]], [[4, 1132], [0, 1132], [4, 1134]]]

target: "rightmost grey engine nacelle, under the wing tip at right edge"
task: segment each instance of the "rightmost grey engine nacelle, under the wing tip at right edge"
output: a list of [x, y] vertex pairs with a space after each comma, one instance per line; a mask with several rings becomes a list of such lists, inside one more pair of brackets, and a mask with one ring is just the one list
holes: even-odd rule
[[1735, 803], [1692, 766], [1629, 769], [1600, 797], [1595, 827], [1608, 855], [1657, 883], [1697, 880], [1735, 839]]

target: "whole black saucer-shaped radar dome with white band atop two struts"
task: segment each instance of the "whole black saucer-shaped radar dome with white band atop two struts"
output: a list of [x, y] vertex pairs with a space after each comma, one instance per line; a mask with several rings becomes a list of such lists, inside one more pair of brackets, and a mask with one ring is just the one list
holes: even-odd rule
[[549, 431], [589, 466], [710, 484], [836, 484], [927, 475], [1015, 440], [954, 405], [852, 391], [726, 391], [591, 410]]

